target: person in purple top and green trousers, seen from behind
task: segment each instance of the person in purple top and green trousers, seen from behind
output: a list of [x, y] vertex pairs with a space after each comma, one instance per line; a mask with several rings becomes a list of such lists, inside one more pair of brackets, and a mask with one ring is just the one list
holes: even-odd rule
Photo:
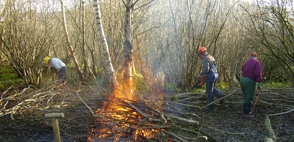
[[250, 106], [256, 94], [256, 88], [260, 89], [263, 85], [263, 71], [262, 64], [257, 60], [257, 53], [252, 52], [249, 59], [242, 67], [242, 76], [240, 78], [240, 86], [242, 89], [243, 102], [243, 116], [252, 118], [254, 115], [250, 114]]

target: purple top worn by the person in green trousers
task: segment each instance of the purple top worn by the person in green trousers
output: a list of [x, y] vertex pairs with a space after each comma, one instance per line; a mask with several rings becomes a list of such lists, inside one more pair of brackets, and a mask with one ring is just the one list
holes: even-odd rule
[[242, 67], [242, 76], [255, 80], [256, 82], [263, 81], [262, 64], [255, 58], [248, 59]]

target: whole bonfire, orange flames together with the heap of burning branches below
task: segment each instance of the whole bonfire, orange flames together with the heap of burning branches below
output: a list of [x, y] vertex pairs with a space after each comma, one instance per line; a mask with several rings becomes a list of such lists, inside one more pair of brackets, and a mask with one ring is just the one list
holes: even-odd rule
[[199, 122], [164, 104], [160, 92], [143, 96], [133, 90], [133, 84], [120, 83], [104, 100], [95, 114], [97, 128], [88, 141], [178, 141], [184, 133], [196, 139], [199, 132], [211, 137], [197, 128]]

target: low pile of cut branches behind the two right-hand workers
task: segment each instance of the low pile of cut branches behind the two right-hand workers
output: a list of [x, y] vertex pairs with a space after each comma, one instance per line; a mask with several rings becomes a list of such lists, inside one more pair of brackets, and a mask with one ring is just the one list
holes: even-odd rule
[[[220, 99], [216, 98], [215, 101], [210, 104], [207, 104], [207, 95], [205, 91], [197, 93], [181, 93], [174, 96], [169, 96], [168, 100], [170, 100], [170, 104], [173, 104], [174, 107], [177, 106], [178, 108], [182, 108], [185, 106], [199, 110], [211, 104], [220, 105], [218, 102], [222, 99], [225, 99], [224, 103], [226, 105], [243, 104], [243, 93], [241, 88], [230, 88], [227, 90], [222, 90], [222, 92], [225, 94], [225, 96]], [[283, 107], [283, 112], [281, 113], [289, 113], [294, 111], [293, 93], [294, 85], [279, 86], [276, 88], [262, 87], [260, 94], [259, 91], [257, 91], [252, 105], [254, 106], [254, 104], [256, 104], [260, 106]], [[269, 116], [278, 114], [269, 114]]]

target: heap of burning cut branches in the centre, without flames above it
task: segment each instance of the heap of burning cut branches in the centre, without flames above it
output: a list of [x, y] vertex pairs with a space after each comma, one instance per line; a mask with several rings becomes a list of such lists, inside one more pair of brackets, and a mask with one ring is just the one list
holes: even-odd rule
[[[164, 109], [172, 111], [164, 112], [154, 101], [120, 98], [104, 101], [111, 109], [101, 109], [95, 115], [97, 129], [94, 129], [91, 141], [219, 141], [200, 130], [197, 120], [189, 119], [169, 106], [165, 105]], [[120, 107], [124, 109], [117, 111]]]

